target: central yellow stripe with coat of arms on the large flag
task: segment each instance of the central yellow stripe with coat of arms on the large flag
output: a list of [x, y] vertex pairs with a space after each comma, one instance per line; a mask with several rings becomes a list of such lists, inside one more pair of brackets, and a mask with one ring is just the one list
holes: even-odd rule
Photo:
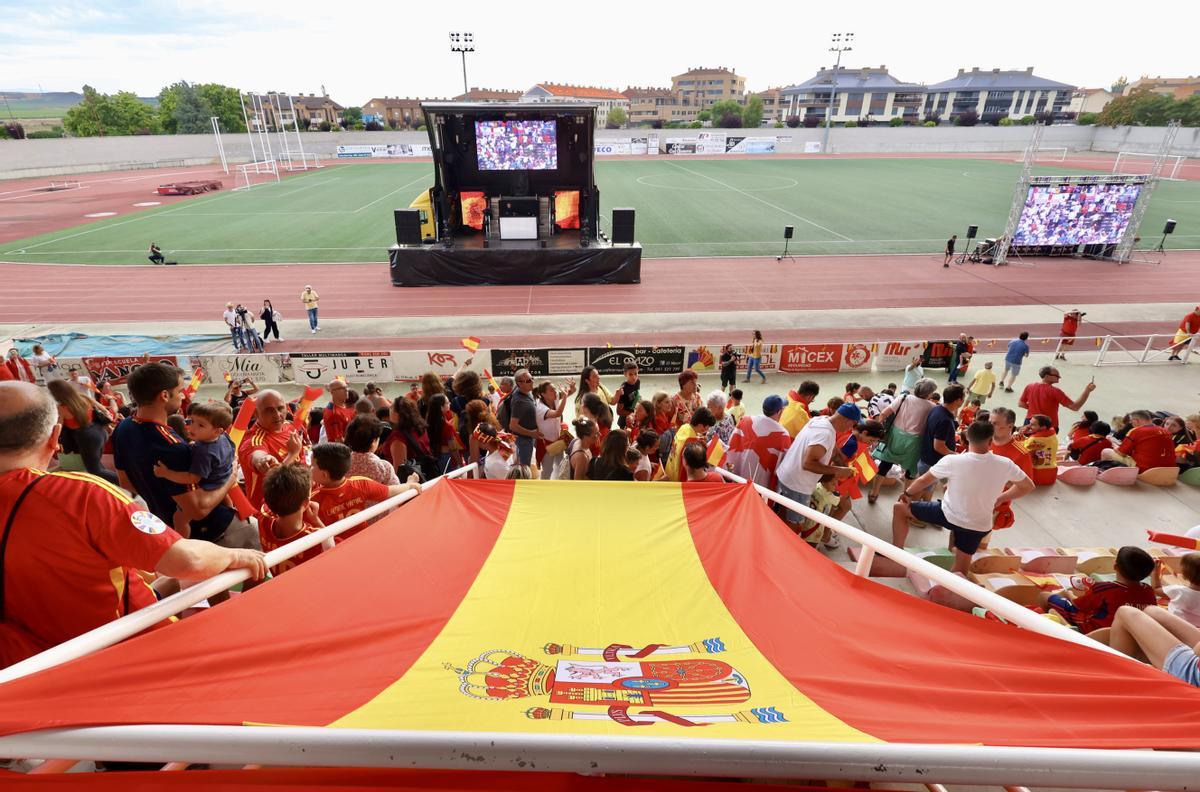
[[[570, 530], [563, 529], [566, 514], [572, 515]], [[430, 584], [436, 581], [431, 578]], [[481, 664], [476, 667], [492, 667], [488, 664], [503, 658], [520, 664], [515, 655], [521, 655], [541, 670], [535, 680], [546, 683], [548, 668], [556, 668], [559, 678], [578, 673], [587, 679], [601, 665], [601, 656], [589, 654], [589, 648], [614, 643], [686, 647], [709, 638], [719, 638], [724, 650], [706, 653], [700, 648], [647, 658], [680, 664], [720, 661], [744, 678], [749, 694], [738, 702], [731, 702], [734, 694], [721, 685], [700, 694], [650, 690], [660, 696], [650, 709], [684, 719], [725, 718], [700, 728], [670, 721], [624, 726], [605, 714], [604, 703], [551, 702], [545, 691], [492, 701], [486, 698], [486, 688], [464, 684], [458, 674], [473, 660]], [[386, 658], [379, 661], [386, 662]], [[618, 661], [638, 662], [628, 658]], [[484, 673], [470, 678], [473, 683], [486, 679]], [[523, 684], [514, 685], [517, 688], [526, 690]], [[636, 685], [629, 690], [637, 692]], [[710, 703], [682, 701], [696, 695], [709, 696]], [[781, 722], [734, 716], [766, 707], [775, 708]], [[638, 709], [644, 708], [630, 707], [629, 712], [636, 716]], [[527, 714], [532, 710], [557, 714], [533, 719]], [[566, 713], [583, 716], [568, 718]], [[331, 726], [878, 742], [814, 703], [750, 643], [713, 590], [696, 554], [682, 485], [631, 487], [607, 481], [516, 482], [504, 529], [450, 622], [403, 678]]]

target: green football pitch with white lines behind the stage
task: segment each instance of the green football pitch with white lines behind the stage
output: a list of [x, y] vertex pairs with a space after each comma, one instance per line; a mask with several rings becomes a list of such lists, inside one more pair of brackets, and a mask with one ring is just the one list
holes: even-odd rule
[[[1098, 166], [1103, 167], [1103, 166]], [[1019, 166], [971, 158], [600, 161], [601, 226], [637, 210], [648, 257], [773, 256], [784, 226], [800, 254], [936, 253], [968, 224], [997, 236]], [[1040, 167], [1038, 173], [1079, 173]], [[346, 164], [224, 191], [0, 246], [8, 262], [143, 264], [148, 240], [180, 263], [382, 262], [391, 210], [432, 184], [428, 163]], [[1200, 247], [1200, 181], [1163, 181], [1142, 224]], [[960, 247], [961, 250], [961, 247]]]

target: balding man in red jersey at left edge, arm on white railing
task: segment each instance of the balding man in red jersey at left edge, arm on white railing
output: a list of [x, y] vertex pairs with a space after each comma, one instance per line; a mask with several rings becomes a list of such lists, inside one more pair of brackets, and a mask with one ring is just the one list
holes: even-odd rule
[[137, 570], [266, 574], [262, 553], [181, 539], [119, 487], [46, 473], [61, 426], [48, 394], [0, 383], [0, 667], [155, 601]]

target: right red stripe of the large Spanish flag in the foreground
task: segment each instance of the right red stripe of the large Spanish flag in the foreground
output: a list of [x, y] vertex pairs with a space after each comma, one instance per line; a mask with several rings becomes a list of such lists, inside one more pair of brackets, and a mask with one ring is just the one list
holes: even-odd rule
[[700, 560], [750, 642], [860, 731], [1051, 748], [1200, 740], [1198, 688], [858, 578], [797, 541], [748, 485], [684, 487], [683, 498]]

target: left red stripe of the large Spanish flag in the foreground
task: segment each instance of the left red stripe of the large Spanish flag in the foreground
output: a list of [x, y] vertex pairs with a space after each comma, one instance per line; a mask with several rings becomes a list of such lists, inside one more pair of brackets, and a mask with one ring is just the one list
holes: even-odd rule
[[[514, 482], [470, 484], [466, 496], [462, 482], [443, 481], [336, 550], [221, 605], [220, 619], [184, 619], [155, 641], [134, 638], [0, 686], [0, 733], [332, 722], [404, 676], [487, 560]], [[197, 660], [212, 652], [216, 660]], [[164, 668], [169, 684], [148, 686]]]

